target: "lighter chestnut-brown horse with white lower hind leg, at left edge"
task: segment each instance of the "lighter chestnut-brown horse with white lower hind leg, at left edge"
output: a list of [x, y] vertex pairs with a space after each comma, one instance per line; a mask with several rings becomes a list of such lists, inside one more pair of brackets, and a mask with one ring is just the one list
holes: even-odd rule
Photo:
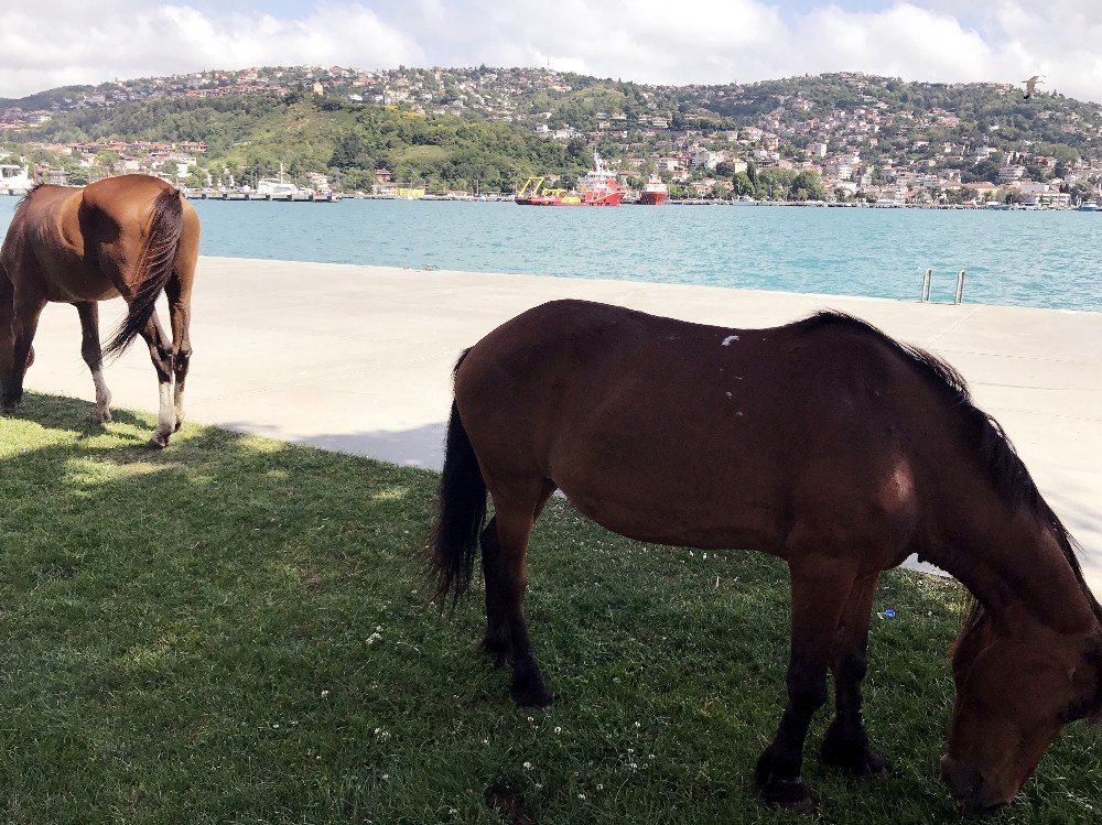
[[[145, 339], [160, 382], [160, 416], [150, 445], [168, 446], [184, 419], [198, 248], [195, 209], [160, 178], [125, 175], [84, 188], [32, 189], [15, 210], [0, 251], [0, 409], [10, 412], [22, 401], [39, 316], [47, 302], [56, 301], [73, 304], [80, 314], [80, 352], [96, 384], [95, 417], [110, 421], [97, 302], [122, 295], [129, 311], [107, 354], [121, 352], [139, 335]], [[169, 297], [171, 341], [156, 316], [162, 291]]]

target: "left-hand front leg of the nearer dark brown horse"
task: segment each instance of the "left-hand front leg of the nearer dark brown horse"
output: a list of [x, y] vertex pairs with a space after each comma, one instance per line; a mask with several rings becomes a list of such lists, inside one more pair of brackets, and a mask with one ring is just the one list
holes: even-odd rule
[[789, 562], [792, 575], [792, 648], [788, 705], [777, 735], [761, 753], [754, 783], [766, 802], [798, 812], [814, 810], [801, 777], [803, 740], [815, 710], [827, 703], [831, 645], [854, 576], [833, 560]]

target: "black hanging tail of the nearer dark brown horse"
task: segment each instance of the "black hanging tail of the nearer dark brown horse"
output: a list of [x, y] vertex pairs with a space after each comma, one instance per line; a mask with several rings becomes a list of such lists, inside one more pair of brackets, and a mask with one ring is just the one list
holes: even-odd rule
[[[456, 370], [466, 356], [466, 352], [460, 356]], [[449, 597], [453, 605], [458, 601], [471, 584], [478, 538], [486, 520], [486, 481], [454, 401], [447, 421], [437, 508], [429, 565], [436, 579], [435, 601], [443, 607]]]

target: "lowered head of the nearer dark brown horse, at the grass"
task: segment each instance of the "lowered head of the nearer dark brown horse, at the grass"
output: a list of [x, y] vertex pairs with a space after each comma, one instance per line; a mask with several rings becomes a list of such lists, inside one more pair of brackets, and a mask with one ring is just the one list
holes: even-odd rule
[[1069, 721], [1102, 715], [1102, 643], [990, 619], [953, 652], [957, 702], [941, 775], [970, 813], [1005, 805]]

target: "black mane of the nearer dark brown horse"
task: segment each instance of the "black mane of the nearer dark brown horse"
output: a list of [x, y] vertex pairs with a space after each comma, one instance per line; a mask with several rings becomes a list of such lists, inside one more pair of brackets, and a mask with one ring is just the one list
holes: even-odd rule
[[[942, 389], [955, 414], [962, 416], [975, 433], [976, 448], [983, 466], [1003, 500], [1015, 512], [1026, 509], [1048, 528], [1071, 565], [1094, 615], [1102, 622], [1102, 606], [1087, 586], [1079, 565], [1077, 551], [1081, 552], [1082, 549], [1040, 495], [1033, 476], [1000, 423], [973, 403], [968, 382], [960, 372], [931, 352], [897, 341], [872, 324], [845, 313], [820, 312], [803, 321], [802, 325], [804, 328], [839, 326], [869, 335], [906, 358], [930, 383]], [[985, 616], [983, 604], [979, 599], [972, 598], [970, 601], [961, 625], [961, 637], [979, 626]]]

